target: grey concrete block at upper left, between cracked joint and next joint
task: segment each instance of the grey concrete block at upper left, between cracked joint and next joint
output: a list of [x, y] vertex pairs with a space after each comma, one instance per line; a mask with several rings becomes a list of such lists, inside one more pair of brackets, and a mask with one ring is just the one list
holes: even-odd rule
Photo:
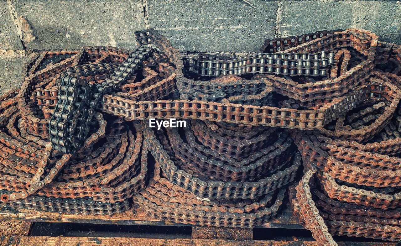
[[145, 28], [142, 2], [136, 0], [24, 0], [14, 5], [36, 37], [25, 44], [28, 49], [132, 48], [134, 31]]

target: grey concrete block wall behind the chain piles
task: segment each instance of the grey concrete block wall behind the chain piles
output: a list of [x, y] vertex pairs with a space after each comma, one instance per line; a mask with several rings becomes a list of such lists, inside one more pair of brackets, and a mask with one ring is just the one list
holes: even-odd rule
[[182, 52], [253, 52], [264, 39], [363, 28], [401, 44], [395, 0], [0, 0], [0, 86], [20, 86], [40, 50], [111, 45], [132, 49], [155, 28]]

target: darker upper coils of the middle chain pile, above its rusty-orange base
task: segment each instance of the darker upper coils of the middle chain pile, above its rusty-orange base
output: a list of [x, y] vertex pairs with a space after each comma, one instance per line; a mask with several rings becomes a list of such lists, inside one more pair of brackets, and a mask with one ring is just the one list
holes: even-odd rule
[[[188, 124], [194, 128], [194, 124], [202, 123]], [[189, 127], [183, 131], [184, 138], [177, 128], [166, 128], [156, 133], [148, 128], [145, 136], [150, 139], [150, 151], [168, 180], [198, 197], [253, 199], [293, 181], [300, 166], [299, 155], [280, 159], [291, 151], [292, 140], [284, 132], [268, 132], [267, 129], [264, 134], [266, 139], [261, 146], [257, 146], [262, 147], [260, 151], [251, 149], [254, 145], [251, 141], [249, 144], [244, 141], [242, 147], [237, 146], [233, 152], [248, 151], [250, 155], [237, 159], [230, 157], [233, 152], [227, 152], [229, 146], [224, 149], [225, 144], [221, 144], [222, 148], [213, 150], [200, 144]], [[249, 133], [247, 135], [250, 136]], [[235, 138], [235, 135], [220, 136], [222, 143]], [[213, 136], [209, 138], [213, 139]]]

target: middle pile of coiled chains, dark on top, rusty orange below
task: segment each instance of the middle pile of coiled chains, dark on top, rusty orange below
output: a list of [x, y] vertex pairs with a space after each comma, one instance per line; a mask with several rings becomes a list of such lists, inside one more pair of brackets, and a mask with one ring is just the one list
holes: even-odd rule
[[301, 165], [289, 134], [277, 128], [201, 120], [158, 131], [143, 126], [155, 170], [133, 199], [162, 220], [260, 225], [275, 217]]

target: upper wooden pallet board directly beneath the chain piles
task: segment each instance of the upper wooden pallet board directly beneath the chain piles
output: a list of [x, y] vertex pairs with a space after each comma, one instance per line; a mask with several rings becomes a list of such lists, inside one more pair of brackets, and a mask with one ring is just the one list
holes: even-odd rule
[[[164, 222], [149, 216], [145, 211], [134, 207], [122, 213], [109, 215], [85, 215], [34, 211], [28, 209], [10, 209], [0, 207], [0, 220], [26, 220], [30, 222], [75, 222], [91, 224], [121, 224], [121, 225], [150, 225], [150, 226], [174, 226], [182, 225], [174, 222]], [[263, 228], [288, 228], [302, 229], [292, 218], [289, 208], [284, 208], [277, 219], [265, 223], [259, 227]]]

